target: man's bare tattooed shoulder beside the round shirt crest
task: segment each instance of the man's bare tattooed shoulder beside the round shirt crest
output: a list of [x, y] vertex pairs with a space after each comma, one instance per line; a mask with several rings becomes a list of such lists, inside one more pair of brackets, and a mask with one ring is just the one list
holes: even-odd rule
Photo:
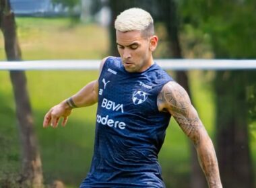
[[177, 82], [166, 83], [158, 94], [158, 109], [160, 111], [182, 111], [190, 106], [191, 101], [187, 91]]

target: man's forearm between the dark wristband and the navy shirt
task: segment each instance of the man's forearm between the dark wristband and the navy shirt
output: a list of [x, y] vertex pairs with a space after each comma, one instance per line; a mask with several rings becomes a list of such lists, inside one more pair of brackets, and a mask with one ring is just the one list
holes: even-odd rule
[[80, 91], [65, 100], [69, 107], [85, 107], [93, 105], [98, 101], [98, 81], [92, 81]]

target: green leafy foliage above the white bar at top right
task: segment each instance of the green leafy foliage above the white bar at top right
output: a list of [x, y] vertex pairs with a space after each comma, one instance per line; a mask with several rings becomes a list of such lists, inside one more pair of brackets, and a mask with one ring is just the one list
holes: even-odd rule
[[210, 34], [218, 58], [255, 58], [255, 1], [186, 1], [180, 3], [183, 23]]

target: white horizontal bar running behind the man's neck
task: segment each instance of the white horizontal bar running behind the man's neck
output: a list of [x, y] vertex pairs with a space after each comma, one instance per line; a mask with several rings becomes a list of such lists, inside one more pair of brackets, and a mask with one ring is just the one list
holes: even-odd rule
[[[166, 70], [236, 70], [256, 69], [256, 60], [156, 59]], [[0, 71], [96, 70], [100, 60], [30, 60], [0, 61]]]

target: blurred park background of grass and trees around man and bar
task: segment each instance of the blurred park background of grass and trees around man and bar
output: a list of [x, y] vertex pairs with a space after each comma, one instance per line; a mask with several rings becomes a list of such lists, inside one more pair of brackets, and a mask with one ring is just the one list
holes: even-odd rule
[[[154, 17], [154, 58], [256, 58], [253, 0], [0, 0], [0, 60], [118, 56], [113, 22], [129, 7]], [[256, 187], [256, 70], [167, 71], [191, 95], [214, 141], [223, 187]], [[0, 187], [79, 187], [92, 159], [96, 105], [73, 110], [65, 128], [43, 129], [42, 121], [97, 77], [83, 70], [0, 71]], [[167, 188], [207, 187], [191, 142], [173, 120], [159, 160]]]

